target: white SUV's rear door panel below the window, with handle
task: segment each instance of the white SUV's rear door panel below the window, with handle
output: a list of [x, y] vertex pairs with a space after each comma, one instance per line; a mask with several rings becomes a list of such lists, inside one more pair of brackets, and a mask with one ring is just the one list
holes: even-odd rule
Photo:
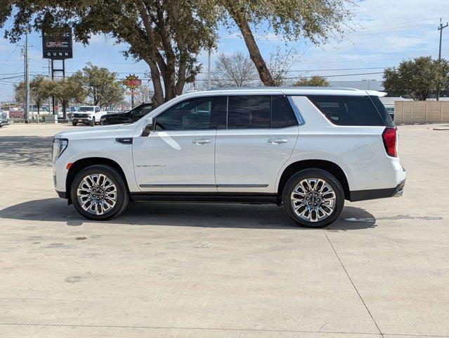
[[298, 127], [219, 130], [216, 184], [219, 192], [276, 192], [276, 177], [291, 156]]

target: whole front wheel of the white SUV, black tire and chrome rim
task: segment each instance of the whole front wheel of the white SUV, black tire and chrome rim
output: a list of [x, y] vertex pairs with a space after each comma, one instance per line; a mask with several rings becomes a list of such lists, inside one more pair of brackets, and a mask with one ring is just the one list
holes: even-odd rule
[[[113, 188], [103, 189], [110, 183], [115, 187], [115, 195]], [[94, 192], [95, 187], [100, 189], [97, 188]], [[98, 192], [99, 190], [102, 192]], [[103, 199], [101, 199], [102, 196]], [[89, 220], [115, 218], [124, 211], [129, 202], [129, 192], [124, 177], [110, 165], [91, 165], [81, 170], [72, 182], [70, 197], [78, 213]]]

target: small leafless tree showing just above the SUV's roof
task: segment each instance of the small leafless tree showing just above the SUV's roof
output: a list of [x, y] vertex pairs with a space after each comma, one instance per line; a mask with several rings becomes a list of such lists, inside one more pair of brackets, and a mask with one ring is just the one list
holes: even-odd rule
[[212, 70], [214, 87], [248, 87], [258, 84], [254, 63], [240, 51], [234, 54], [219, 54]]

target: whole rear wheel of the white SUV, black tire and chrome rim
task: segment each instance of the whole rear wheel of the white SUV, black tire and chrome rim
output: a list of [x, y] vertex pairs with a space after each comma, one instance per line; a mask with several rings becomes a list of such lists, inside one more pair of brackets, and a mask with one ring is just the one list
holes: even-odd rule
[[301, 227], [325, 227], [343, 211], [344, 191], [333, 175], [311, 168], [290, 177], [282, 201], [287, 215]]

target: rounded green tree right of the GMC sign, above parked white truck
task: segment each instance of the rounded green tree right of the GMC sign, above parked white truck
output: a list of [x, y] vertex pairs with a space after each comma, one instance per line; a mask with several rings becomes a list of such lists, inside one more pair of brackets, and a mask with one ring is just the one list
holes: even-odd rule
[[85, 96], [94, 106], [115, 104], [123, 100], [122, 82], [117, 80], [116, 73], [111, 73], [107, 68], [88, 63], [82, 70], [74, 73], [70, 80], [74, 82], [73, 85], [77, 84], [84, 90]]

